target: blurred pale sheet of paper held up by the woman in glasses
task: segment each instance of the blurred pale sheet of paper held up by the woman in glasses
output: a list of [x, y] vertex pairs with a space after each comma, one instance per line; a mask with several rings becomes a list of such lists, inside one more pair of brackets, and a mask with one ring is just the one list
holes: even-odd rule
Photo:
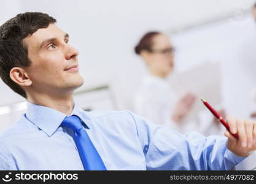
[[203, 63], [185, 72], [173, 74], [170, 83], [178, 98], [182, 98], [188, 92], [196, 96], [195, 104], [184, 121], [195, 120], [196, 115], [206, 109], [201, 98], [208, 101], [216, 110], [222, 102], [219, 62]]

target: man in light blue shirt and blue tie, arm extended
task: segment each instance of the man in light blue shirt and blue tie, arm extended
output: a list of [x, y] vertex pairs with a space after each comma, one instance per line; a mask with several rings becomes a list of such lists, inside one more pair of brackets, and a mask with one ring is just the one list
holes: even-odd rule
[[25, 115], [0, 137], [0, 169], [224, 170], [256, 149], [250, 120], [228, 118], [236, 140], [228, 132], [228, 139], [184, 136], [129, 111], [79, 109], [72, 97], [83, 84], [79, 53], [55, 21], [28, 12], [0, 27], [1, 78], [28, 101]]

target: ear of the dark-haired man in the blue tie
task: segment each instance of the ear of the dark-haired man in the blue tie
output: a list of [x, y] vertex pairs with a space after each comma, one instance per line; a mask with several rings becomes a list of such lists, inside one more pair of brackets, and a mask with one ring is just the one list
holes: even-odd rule
[[20, 86], [30, 86], [32, 80], [29, 78], [28, 73], [21, 67], [13, 67], [10, 70], [10, 79]]

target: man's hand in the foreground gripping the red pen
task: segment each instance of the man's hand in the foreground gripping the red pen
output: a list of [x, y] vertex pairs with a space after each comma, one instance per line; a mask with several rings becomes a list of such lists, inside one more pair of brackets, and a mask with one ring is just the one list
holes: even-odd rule
[[238, 134], [238, 140], [230, 132], [225, 132], [228, 137], [227, 148], [237, 156], [249, 156], [256, 150], [256, 122], [228, 117], [227, 123], [232, 134]]

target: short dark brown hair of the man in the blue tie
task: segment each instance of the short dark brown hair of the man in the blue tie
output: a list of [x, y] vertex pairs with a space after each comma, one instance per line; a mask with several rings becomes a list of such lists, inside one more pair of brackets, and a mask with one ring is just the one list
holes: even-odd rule
[[0, 77], [15, 93], [24, 98], [27, 97], [26, 93], [10, 79], [10, 70], [13, 67], [28, 67], [31, 64], [23, 39], [55, 22], [53, 17], [45, 13], [26, 12], [18, 14], [0, 26]]

